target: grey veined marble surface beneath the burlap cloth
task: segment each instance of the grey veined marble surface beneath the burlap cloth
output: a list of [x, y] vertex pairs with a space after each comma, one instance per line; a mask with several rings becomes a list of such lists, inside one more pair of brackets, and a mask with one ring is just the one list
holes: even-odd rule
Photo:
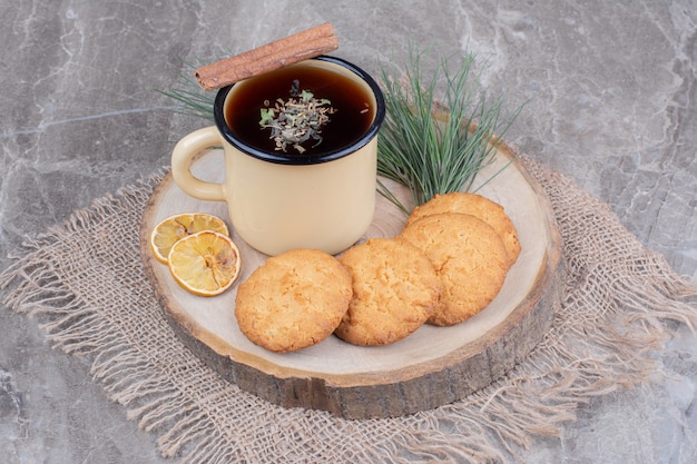
[[[207, 62], [331, 21], [336, 53], [377, 73], [409, 45], [489, 61], [511, 107], [507, 139], [572, 177], [674, 268], [697, 276], [697, 3], [681, 1], [0, 2], [0, 268], [27, 235], [169, 162], [205, 121], [175, 115], [183, 61]], [[33, 320], [0, 309], [0, 455], [7, 463], [158, 463], [156, 436], [51, 351]], [[536, 463], [697, 462], [697, 342], [665, 373], [599, 397]]]

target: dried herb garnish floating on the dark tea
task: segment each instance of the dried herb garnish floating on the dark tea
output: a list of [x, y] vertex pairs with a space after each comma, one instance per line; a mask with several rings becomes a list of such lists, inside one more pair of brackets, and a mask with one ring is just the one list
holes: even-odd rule
[[315, 98], [308, 90], [301, 90], [300, 80], [293, 80], [289, 98], [276, 99], [274, 106], [266, 100], [261, 109], [262, 129], [271, 129], [269, 138], [276, 142], [276, 150], [286, 151], [288, 146], [300, 154], [306, 151], [303, 144], [312, 139], [316, 147], [322, 144], [322, 129], [337, 110], [326, 98]]

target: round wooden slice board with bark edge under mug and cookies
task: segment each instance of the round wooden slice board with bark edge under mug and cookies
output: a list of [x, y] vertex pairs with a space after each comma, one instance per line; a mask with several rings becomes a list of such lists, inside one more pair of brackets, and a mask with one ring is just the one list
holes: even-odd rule
[[[170, 175], [157, 186], [144, 215], [143, 261], [177, 335], [242, 389], [286, 407], [326, 409], [347, 418], [400, 416], [438, 407], [485, 387], [528, 356], [550, 327], [561, 302], [562, 244], [542, 188], [504, 145], [477, 180], [489, 179], [509, 162], [478, 191], [505, 208], [522, 245], [501, 293], [484, 310], [462, 324], [424, 325], [389, 346], [359, 347], [331, 336], [295, 353], [271, 353], [239, 332], [235, 319], [236, 286], [212, 298], [183, 290], [150, 251], [148, 240], [155, 225], [173, 214], [189, 211], [214, 214], [230, 224], [224, 203], [187, 196]], [[222, 181], [222, 150], [212, 150], [194, 162], [192, 171], [199, 178]], [[406, 189], [383, 181], [408, 203]], [[376, 194], [375, 217], [364, 239], [394, 236], [405, 219], [394, 205]], [[239, 283], [266, 256], [234, 233], [233, 239], [243, 260]]]

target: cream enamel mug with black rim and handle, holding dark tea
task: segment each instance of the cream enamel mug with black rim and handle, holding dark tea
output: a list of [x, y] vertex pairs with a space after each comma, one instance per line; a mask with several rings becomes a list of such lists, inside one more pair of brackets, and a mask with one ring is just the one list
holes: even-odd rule
[[[230, 128], [226, 115], [230, 102], [253, 88], [247, 86], [256, 85], [257, 78], [251, 78], [220, 89], [214, 105], [216, 125], [185, 136], [171, 154], [175, 182], [192, 197], [226, 201], [235, 231], [267, 255], [294, 248], [337, 254], [361, 238], [375, 209], [377, 131], [385, 116], [380, 87], [360, 68], [333, 57], [306, 60], [284, 72], [301, 66], [316, 68], [330, 80], [348, 78], [363, 91], [370, 108], [364, 111], [371, 119], [353, 140], [312, 156], [259, 149], [245, 141]], [[322, 86], [316, 89], [317, 97], [321, 92]], [[337, 106], [330, 125], [338, 125], [336, 129], [343, 132], [351, 128], [334, 120], [341, 112]], [[256, 130], [261, 130], [256, 120]], [[322, 144], [330, 135], [324, 137]], [[225, 152], [223, 184], [198, 179], [190, 171], [194, 156], [216, 146], [223, 146]]]

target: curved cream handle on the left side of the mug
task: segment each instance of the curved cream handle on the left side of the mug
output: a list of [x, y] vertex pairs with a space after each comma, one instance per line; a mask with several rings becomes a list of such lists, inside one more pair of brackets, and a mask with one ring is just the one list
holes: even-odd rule
[[181, 190], [200, 200], [225, 201], [223, 184], [200, 180], [189, 169], [192, 159], [206, 148], [220, 146], [223, 142], [215, 126], [205, 127], [184, 136], [171, 151], [171, 176]]

